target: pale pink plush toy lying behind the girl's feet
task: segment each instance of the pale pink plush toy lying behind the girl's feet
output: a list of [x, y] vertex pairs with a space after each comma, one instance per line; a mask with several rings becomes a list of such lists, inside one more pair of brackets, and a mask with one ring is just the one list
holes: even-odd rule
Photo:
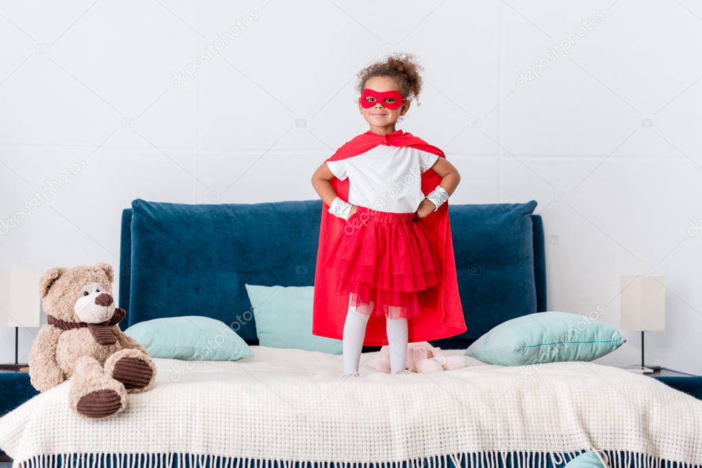
[[[368, 365], [378, 372], [390, 373], [390, 347], [380, 348], [380, 355], [371, 359]], [[407, 344], [405, 367], [414, 372], [439, 372], [465, 367], [463, 356], [444, 356], [440, 347], [433, 347], [426, 341]]]

